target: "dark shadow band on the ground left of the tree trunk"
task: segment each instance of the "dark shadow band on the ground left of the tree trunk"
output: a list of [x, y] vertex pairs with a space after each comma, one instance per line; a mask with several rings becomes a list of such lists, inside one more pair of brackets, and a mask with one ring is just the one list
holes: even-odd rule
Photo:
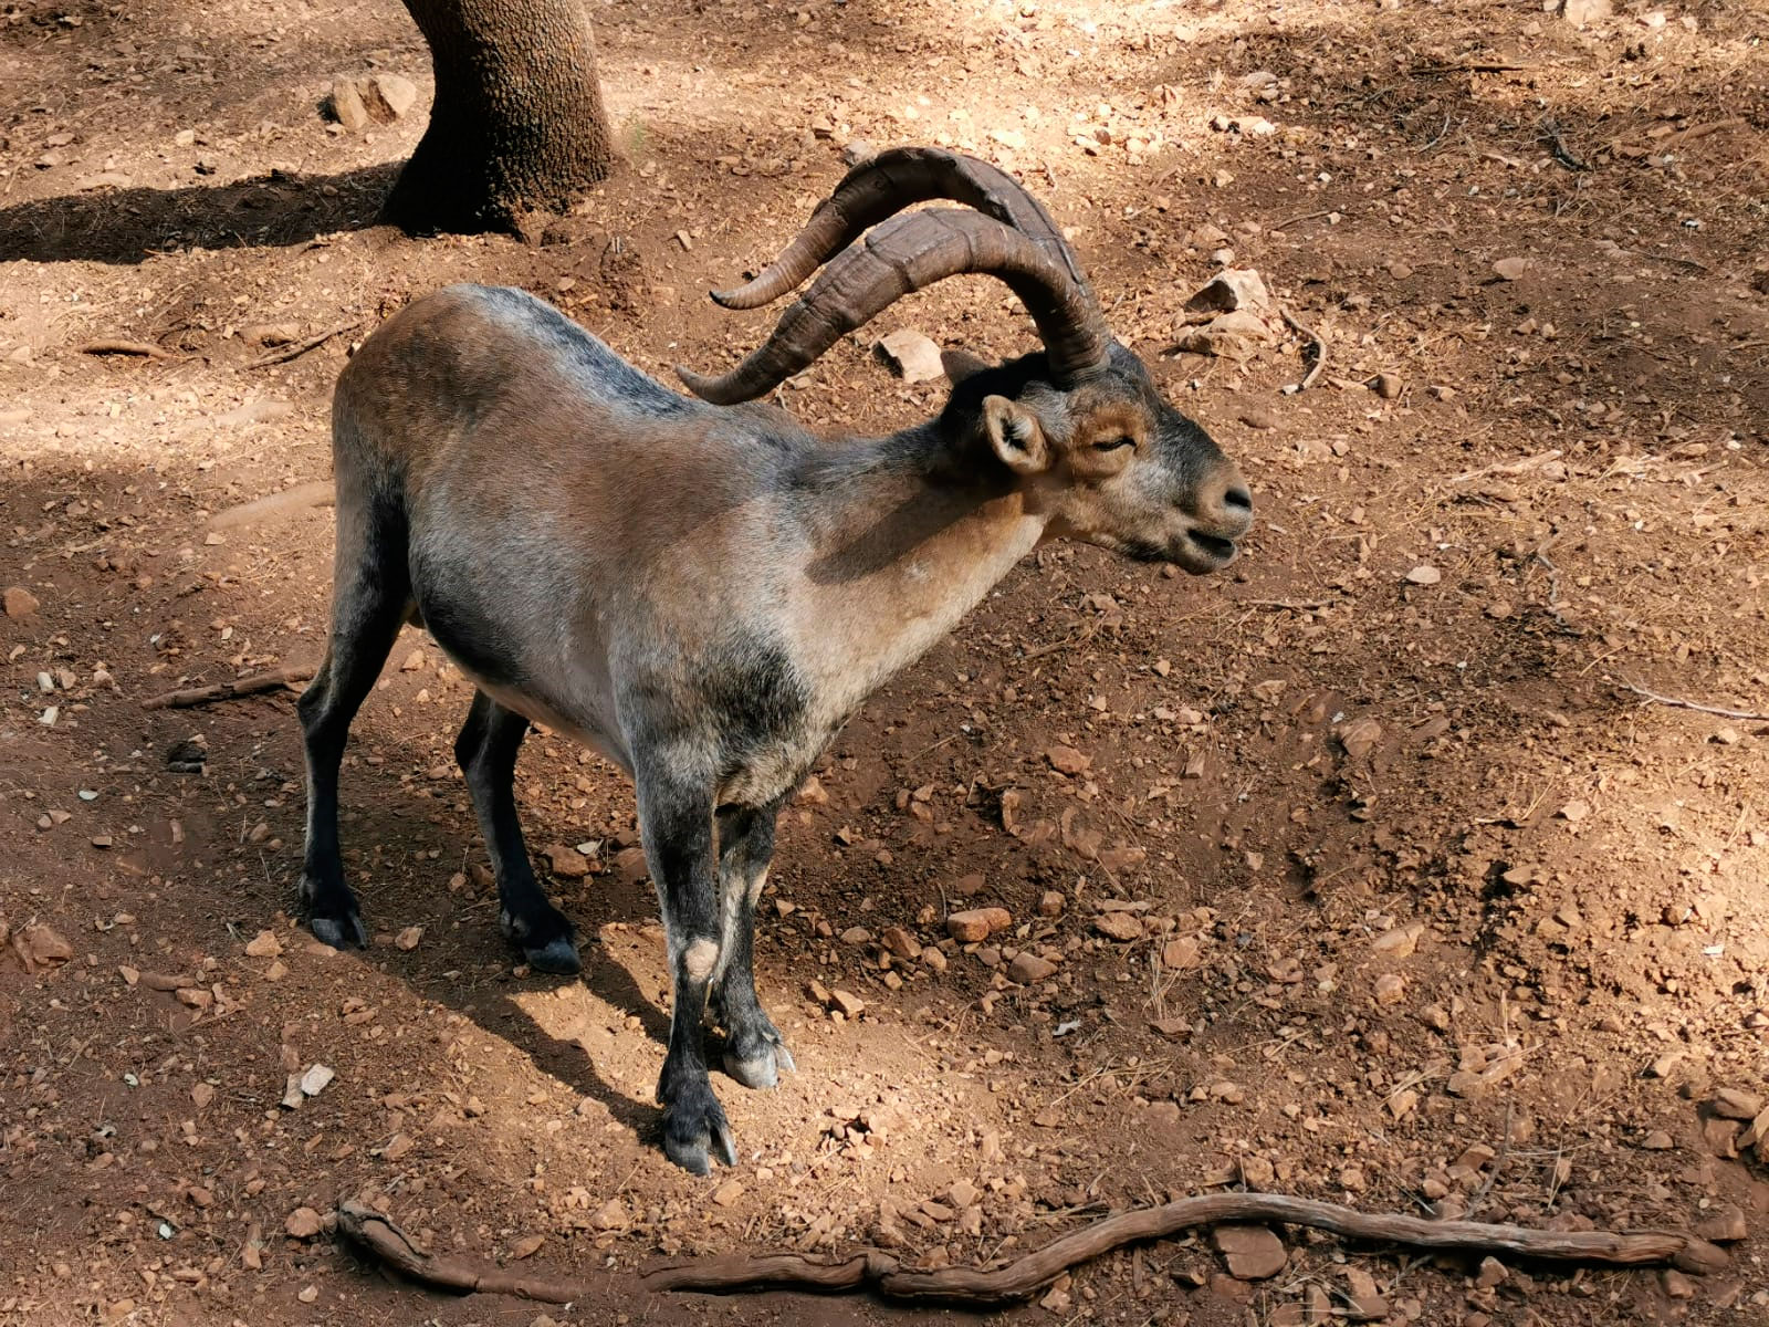
[[235, 184], [101, 189], [0, 209], [0, 262], [138, 264], [177, 249], [287, 246], [377, 223], [402, 163], [340, 175], [271, 170]]

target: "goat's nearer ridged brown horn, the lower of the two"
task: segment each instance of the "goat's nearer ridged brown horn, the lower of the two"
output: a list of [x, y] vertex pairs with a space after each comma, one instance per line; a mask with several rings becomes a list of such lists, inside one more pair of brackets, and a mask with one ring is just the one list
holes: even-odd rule
[[729, 373], [708, 377], [683, 366], [676, 373], [715, 405], [755, 400], [909, 292], [961, 272], [1012, 287], [1038, 324], [1058, 380], [1106, 363], [1111, 340], [1093, 295], [1044, 244], [980, 212], [934, 207], [892, 218], [837, 255], [780, 315], [773, 334]]

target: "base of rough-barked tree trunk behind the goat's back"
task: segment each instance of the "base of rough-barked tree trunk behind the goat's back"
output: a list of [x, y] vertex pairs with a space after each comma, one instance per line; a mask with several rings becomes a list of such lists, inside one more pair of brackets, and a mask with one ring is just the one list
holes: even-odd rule
[[405, 230], [515, 230], [614, 165], [586, 0], [403, 0], [430, 42], [430, 127], [387, 195]]

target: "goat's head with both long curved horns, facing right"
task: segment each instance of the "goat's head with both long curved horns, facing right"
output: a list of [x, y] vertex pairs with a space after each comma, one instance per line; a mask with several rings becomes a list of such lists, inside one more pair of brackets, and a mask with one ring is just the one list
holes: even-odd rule
[[[975, 211], [897, 216], [929, 198]], [[953, 391], [939, 428], [959, 453], [1003, 467], [1049, 513], [1051, 534], [1194, 573], [1235, 557], [1252, 524], [1240, 471], [1113, 338], [1068, 242], [1014, 179], [957, 152], [884, 152], [849, 172], [764, 272], [713, 299], [757, 308], [824, 262], [764, 345], [720, 377], [678, 370], [688, 387], [722, 405], [754, 400], [902, 295], [961, 272], [996, 276], [1026, 304], [1044, 352], [999, 366], [946, 357]]]

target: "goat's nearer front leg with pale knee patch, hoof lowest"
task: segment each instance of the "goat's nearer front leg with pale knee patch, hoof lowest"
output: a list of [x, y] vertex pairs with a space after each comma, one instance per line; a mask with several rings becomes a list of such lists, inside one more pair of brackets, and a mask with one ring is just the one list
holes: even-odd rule
[[709, 1148], [727, 1166], [738, 1164], [731, 1125], [706, 1076], [702, 1030], [720, 940], [711, 779], [640, 768], [637, 782], [639, 830], [658, 886], [676, 987], [669, 1055], [658, 1078], [663, 1150], [678, 1166], [706, 1175]]

